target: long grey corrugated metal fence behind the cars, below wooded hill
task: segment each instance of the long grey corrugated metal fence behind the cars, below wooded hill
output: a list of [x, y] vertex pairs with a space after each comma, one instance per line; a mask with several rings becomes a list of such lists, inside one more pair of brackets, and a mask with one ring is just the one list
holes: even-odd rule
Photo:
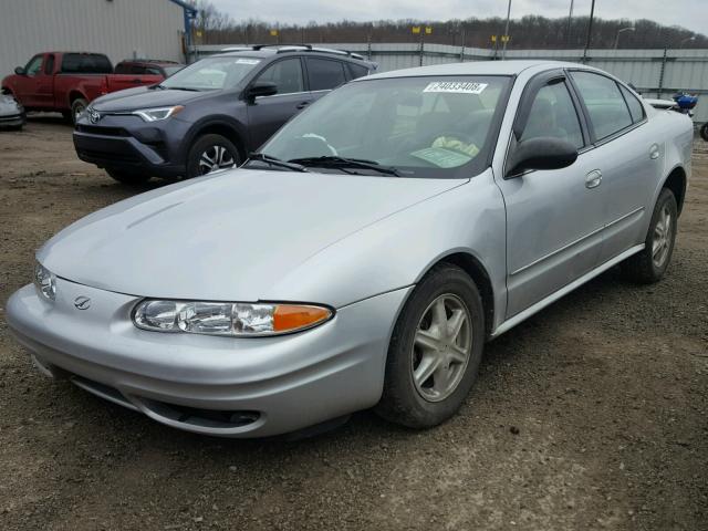
[[[238, 46], [239, 44], [232, 44]], [[371, 56], [378, 63], [379, 72], [409, 69], [420, 65], [420, 44], [417, 43], [325, 43], [322, 46], [350, 50]], [[197, 56], [216, 53], [223, 45], [195, 46]], [[440, 64], [461, 61], [488, 61], [494, 52], [481, 48], [425, 44], [423, 64]], [[498, 58], [501, 52], [498, 52]], [[508, 59], [551, 59], [579, 62], [582, 50], [510, 50]], [[621, 80], [633, 83], [647, 97], [656, 97], [659, 86], [662, 97], [668, 98], [681, 90], [699, 95], [696, 121], [708, 122], [708, 50], [669, 50], [664, 61], [664, 50], [590, 50], [587, 64], [605, 70]], [[662, 79], [662, 65], [664, 76]]]

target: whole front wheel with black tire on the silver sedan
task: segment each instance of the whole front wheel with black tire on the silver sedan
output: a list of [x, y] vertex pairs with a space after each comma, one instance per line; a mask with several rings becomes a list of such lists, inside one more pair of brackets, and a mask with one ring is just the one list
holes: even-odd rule
[[[467, 325], [456, 337], [440, 339], [437, 333], [435, 309], [439, 309], [440, 300], [449, 319], [448, 331], [458, 312], [467, 312]], [[425, 346], [416, 340], [420, 332]], [[437, 350], [429, 345], [431, 336], [438, 337], [434, 341]], [[485, 340], [485, 310], [475, 282], [457, 266], [436, 266], [415, 288], [398, 316], [376, 413], [392, 423], [418, 429], [447, 420], [460, 408], [477, 379]], [[457, 354], [450, 350], [452, 345], [459, 347]], [[459, 356], [461, 351], [467, 354], [465, 362], [450, 357]], [[434, 366], [435, 362], [429, 361], [435, 358], [438, 369], [426, 378], [423, 367]], [[448, 384], [450, 387], [445, 388]]]

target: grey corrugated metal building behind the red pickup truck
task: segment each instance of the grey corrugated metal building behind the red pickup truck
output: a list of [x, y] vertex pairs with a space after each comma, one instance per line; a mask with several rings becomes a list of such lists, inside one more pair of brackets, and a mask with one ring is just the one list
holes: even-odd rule
[[0, 77], [45, 51], [184, 62], [191, 13], [183, 0], [0, 0]]

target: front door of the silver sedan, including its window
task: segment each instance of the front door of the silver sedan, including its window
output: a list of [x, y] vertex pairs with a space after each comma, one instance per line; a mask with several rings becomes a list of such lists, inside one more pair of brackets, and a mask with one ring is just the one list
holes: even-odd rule
[[568, 168], [527, 171], [497, 179], [507, 206], [507, 319], [595, 268], [605, 208], [600, 160], [562, 71], [529, 83], [514, 125], [517, 143], [535, 137], [568, 139], [580, 150]]

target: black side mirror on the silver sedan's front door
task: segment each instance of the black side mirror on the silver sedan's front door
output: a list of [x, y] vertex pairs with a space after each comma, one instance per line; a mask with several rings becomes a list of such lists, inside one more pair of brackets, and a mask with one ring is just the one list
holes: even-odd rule
[[538, 137], [519, 142], [507, 160], [506, 178], [519, 177], [530, 169], [561, 169], [577, 159], [577, 149], [562, 138]]

